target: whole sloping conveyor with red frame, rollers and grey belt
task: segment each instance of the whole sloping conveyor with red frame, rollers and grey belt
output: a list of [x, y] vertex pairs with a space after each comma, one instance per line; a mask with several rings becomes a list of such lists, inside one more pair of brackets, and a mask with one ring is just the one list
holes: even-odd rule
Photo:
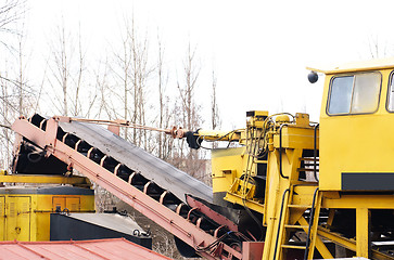
[[242, 258], [232, 247], [240, 248], [245, 236], [183, 203], [187, 193], [212, 200], [211, 188], [185, 172], [98, 126], [35, 115], [29, 121], [17, 119], [13, 130], [167, 229], [199, 255]]

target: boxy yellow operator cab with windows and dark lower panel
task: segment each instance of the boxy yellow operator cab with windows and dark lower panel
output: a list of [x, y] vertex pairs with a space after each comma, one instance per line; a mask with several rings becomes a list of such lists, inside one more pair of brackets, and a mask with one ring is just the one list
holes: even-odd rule
[[326, 74], [320, 190], [394, 191], [394, 58], [317, 72]]

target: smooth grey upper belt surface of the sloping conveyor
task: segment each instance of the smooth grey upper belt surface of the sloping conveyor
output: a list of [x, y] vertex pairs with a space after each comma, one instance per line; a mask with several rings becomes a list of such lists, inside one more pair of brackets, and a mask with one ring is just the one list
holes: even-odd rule
[[60, 122], [59, 125], [65, 132], [73, 133], [111, 155], [119, 162], [170, 191], [182, 202], [186, 202], [185, 194], [192, 194], [212, 203], [212, 187], [144, 150], [126, 142], [102, 126], [78, 121]]

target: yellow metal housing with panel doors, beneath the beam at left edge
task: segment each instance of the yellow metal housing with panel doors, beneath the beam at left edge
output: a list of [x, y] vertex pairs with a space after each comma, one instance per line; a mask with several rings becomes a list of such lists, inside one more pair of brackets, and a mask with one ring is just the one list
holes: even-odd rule
[[23, 187], [2, 194], [1, 204], [1, 240], [49, 240], [50, 213], [56, 206], [61, 211], [94, 212], [94, 195], [26, 194]]

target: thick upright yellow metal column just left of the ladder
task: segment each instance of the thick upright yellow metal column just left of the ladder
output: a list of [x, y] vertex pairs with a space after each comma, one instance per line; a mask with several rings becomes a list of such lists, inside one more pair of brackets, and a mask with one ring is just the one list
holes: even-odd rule
[[[289, 207], [289, 205], [293, 205], [294, 185], [300, 185], [297, 168], [300, 168], [302, 153], [303, 150], [296, 142], [289, 142], [288, 148], [282, 151], [282, 170], [280, 170], [279, 164], [279, 145], [272, 153], [269, 153], [264, 213], [264, 224], [267, 225], [264, 260], [283, 259], [282, 248], [289, 248], [285, 243], [290, 238], [284, 225], [294, 223], [295, 212], [300, 218], [306, 210], [306, 208]], [[284, 178], [280, 177], [280, 171]], [[309, 203], [312, 203], [312, 197], [309, 197]], [[304, 200], [301, 202], [305, 204]]]

